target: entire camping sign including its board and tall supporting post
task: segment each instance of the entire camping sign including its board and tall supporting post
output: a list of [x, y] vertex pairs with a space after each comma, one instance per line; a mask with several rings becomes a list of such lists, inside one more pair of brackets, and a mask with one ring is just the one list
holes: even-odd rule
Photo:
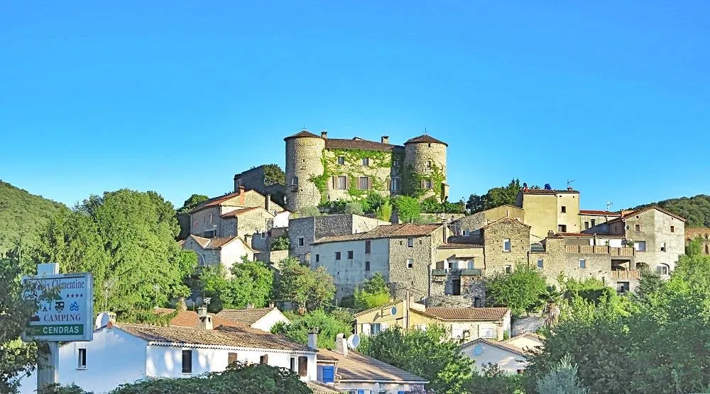
[[[92, 275], [59, 274], [59, 264], [38, 264], [37, 276], [24, 276], [33, 289], [55, 293], [51, 300], [40, 299], [23, 336], [38, 342], [40, 362], [37, 391], [59, 383], [59, 342], [91, 341], [94, 334], [94, 286]], [[38, 294], [30, 296], [38, 299]]]

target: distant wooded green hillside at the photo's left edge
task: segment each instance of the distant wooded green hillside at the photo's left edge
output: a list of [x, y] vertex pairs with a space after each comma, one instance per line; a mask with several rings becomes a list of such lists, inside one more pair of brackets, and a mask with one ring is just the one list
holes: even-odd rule
[[20, 238], [23, 249], [35, 247], [50, 218], [66, 209], [63, 204], [0, 181], [0, 254], [16, 247]]

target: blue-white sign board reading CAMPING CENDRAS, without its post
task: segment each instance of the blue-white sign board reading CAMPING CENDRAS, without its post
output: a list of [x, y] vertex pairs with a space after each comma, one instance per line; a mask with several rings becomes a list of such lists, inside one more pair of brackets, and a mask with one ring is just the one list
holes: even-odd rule
[[[32, 290], [28, 298], [38, 300], [27, 336], [35, 341], [91, 341], [94, 334], [94, 288], [92, 275], [58, 274], [25, 276]], [[42, 297], [41, 292], [51, 293]]]

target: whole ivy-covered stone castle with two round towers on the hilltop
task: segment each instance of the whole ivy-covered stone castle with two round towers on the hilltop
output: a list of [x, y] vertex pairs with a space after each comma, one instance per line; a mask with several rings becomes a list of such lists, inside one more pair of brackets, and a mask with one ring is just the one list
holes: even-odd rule
[[297, 212], [329, 201], [349, 201], [374, 191], [381, 196], [448, 197], [447, 143], [430, 135], [392, 145], [328, 138], [302, 130], [286, 142], [286, 208]]

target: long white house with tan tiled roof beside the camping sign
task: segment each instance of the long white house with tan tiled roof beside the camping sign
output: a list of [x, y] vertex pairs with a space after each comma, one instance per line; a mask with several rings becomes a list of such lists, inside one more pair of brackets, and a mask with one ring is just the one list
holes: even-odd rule
[[[202, 311], [201, 311], [202, 312]], [[224, 371], [234, 361], [290, 368], [302, 381], [317, 380], [316, 350], [283, 335], [251, 327], [220, 325], [200, 315], [200, 327], [115, 323], [94, 331], [92, 342], [60, 347], [60, 384], [106, 393], [143, 378], [182, 378]], [[22, 382], [21, 393], [36, 390], [36, 377]]]

